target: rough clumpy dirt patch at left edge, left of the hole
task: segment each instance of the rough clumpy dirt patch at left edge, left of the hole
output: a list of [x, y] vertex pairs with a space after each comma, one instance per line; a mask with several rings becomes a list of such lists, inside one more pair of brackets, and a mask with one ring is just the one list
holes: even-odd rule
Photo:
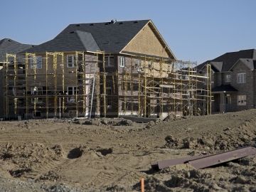
[[1, 144], [0, 159], [11, 176], [21, 177], [49, 161], [63, 156], [61, 146], [47, 147], [40, 143]]

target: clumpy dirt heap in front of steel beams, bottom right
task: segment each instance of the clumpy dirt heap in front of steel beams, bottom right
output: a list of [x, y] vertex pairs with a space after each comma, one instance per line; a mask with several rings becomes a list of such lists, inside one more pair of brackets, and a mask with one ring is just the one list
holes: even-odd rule
[[[218, 169], [196, 170], [188, 164], [170, 166], [148, 176], [145, 189], [146, 191], [255, 191], [255, 164], [242, 168], [240, 175], [235, 173], [238, 167], [227, 166], [225, 169], [225, 174], [219, 174]], [[134, 189], [139, 190], [139, 183]]]

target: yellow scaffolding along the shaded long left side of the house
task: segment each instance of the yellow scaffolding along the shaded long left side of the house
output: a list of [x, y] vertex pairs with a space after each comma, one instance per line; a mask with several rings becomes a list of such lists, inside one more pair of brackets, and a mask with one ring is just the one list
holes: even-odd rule
[[[105, 73], [100, 70], [105, 68], [104, 54], [102, 51], [6, 54], [3, 62], [4, 117], [100, 115], [100, 102], [106, 100], [105, 91], [100, 92], [100, 83], [105, 85]], [[68, 55], [70, 57], [65, 60]]]

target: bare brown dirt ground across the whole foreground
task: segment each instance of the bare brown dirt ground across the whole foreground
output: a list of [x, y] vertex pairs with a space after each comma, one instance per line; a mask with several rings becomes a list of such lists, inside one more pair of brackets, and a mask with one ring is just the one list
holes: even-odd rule
[[0, 191], [256, 191], [256, 158], [196, 170], [151, 163], [256, 142], [256, 110], [170, 117], [0, 122]]

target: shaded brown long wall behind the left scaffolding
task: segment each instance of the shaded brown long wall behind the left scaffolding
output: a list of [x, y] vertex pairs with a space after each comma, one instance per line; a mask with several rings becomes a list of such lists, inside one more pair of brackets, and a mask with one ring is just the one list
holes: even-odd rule
[[[82, 57], [79, 55], [78, 57], [78, 80], [76, 78], [75, 71], [77, 70], [76, 67], [74, 68], [68, 68], [67, 66], [67, 55], [75, 55], [74, 53], [64, 53], [63, 56], [63, 62], [62, 57], [60, 55], [57, 56], [57, 69], [55, 76], [54, 70], [53, 70], [53, 55], [48, 55], [48, 70], [47, 70], [47, 81], [46, 81], [46, 54], [36, 54], [36, 56], [42, 56], [42, 68], [31, 68], [31, 63], [28, 60], [28, 118], [33, 117], [33, 112], [38, 111], [41, 112], [41, 117], [46, 117], [46, 85], [47, 85], [47, 95], [48, 95], [48, 117], [55, 116], [55, 112], [53, 110], [54, 108], [54, 95], [57, 95], [57, 116], [59, 115], [59, 110], [61, 110], [61, 117], [70, 117], [76, 116], [74, 113], [76, 110], [75, 102], [68, 102], [68, 98], [75, 98], [75, 95], [68, 95], [68, 87], [78, 87], [78, 116], [84, 116], [85, 114], [88, 114], [90, 110], [90, 98], [89, 95], [91, 94], [92, 90], [92, 80], [95, 74], [99, 74], [100, 68], [98, 65], [101, 65], [101, 61], [97, 63], [97, 56], [94, 54], [85, 54], [85, 73], [82, 70], [81, 63]], [[63, 70], [61, 65], [64, 67], [64, 76], [63, 76]], [[25, 64], [23, 63], [23, 66]], [[11, 73], [11, 72], [10, 72]], [[17, 113], [18, 115], [23, 115], [23, 118], [25, 118], [26, 114], [26, 81], [25, 81], [25, 69], [18, 71], [18, 77], [17, 77], [17, 85], [19, 86], [20, 90], [16, 90], [17, 95]], [[23, 74], [23, 76], [22, 76]], [[85, 75], [85, 84], [82, 83], [82, 77], [81, 74]], [[56, 78], [55, 78], [56, 77]], [[63, 90], [63, 78], [64, 78], [64, 90]], [[56, 79], [56, 92], [55, 92], [55, 79]], [[95, 78], [95, 81], [100, 80], [101, 78]], [[10, 79], [11, 80], [11, 79]], [[100, 83], [97, 83], [100, 86]], [[85, 85], [85, 86], [84, 86]], [[9, 83], [9, 86], [11, 87], [11, 83]], [[40, 92], [38, 95], [33, 95], [31, 92], [31, 88], [33, 87], [40, 87], [42, 89], [42, 92]], [[83, 95], [83, 89], [85, 88], [85, 95]], [[95, 87], [95, 95], [100, 94], [100, 87]], [[98, 92], [98, 93], [97, 93]], [[13, 98], [15, 96], [12, 95], [12, 92], [9, 91], [9, 101], [10, 104], [13, 103]], [[33, 102], [32, 98], [37, 97], [38, 100], [41, 100], [40, 103]], [[59, 105], [60, 101], [60, 105]], [[83, 108], [83, 103], [85, 102], [85, 112]], [[97, 103], [96, 100], [94, 100], [92, 105], [92, 115], [100, 114], [100, 103]], [[64, 106], [59, 108], [59, 106]], [[9, 105], [9, 117], [15, 118], [14, 112], [11, 112], [11, 109], [14, 109], [14, 106]], [[71, 113], [70, 113], [71, 112]]]

